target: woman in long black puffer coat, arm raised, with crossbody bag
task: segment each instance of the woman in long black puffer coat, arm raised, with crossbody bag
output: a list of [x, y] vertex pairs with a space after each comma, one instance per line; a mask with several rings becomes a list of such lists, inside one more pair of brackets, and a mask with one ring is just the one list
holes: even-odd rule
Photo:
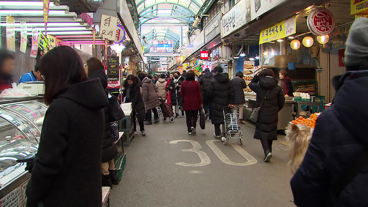
[[257, 94], [256, 104], [258, 106], [266, 97], [258, 112], [254, 133], [254, 138], [261, 140], [265, 152], [265, 162], [269, 162], [272, 157], [272, 142], [277, 140], [278, 113], [284, 107], [285, 102], [284, 94], [277, 83], [275, 73], [270, 69], [265, 69], [255, 75], [249, 84], [249, 88]]

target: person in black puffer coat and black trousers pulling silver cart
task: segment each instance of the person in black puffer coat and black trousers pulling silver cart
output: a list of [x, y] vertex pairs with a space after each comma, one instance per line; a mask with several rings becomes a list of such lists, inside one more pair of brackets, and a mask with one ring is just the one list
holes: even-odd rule
[[[210, 101], [209, 116], [211, 123], [215, 127], [215, 137], [223, 139], [226, 137], [225, 124], [224, 124], [224, 106], [233, 106], [234, 104], [234, 88], [233, 84], [229, 80], [229, 74], [222, 73], [223, 69], [220, 66], [213, 69], [215, 73], [214, 79], [209, 84], [207, 91]], [[202, 77], [203, 78], [203, 77]], [[230, 109], [225, 109], [225, 113], [229, 113]], [[222, 132], [220, 125], [222, 124]]]

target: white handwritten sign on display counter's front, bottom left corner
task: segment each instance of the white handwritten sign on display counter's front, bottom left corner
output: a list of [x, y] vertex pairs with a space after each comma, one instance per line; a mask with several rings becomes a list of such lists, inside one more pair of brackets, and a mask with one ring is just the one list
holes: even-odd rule
[[25, 190], [27, 188], [28, 180], [22, 185], [16, 187], [13, 191], [1, 198], [0, 207], [25, 207], [26, 196]]

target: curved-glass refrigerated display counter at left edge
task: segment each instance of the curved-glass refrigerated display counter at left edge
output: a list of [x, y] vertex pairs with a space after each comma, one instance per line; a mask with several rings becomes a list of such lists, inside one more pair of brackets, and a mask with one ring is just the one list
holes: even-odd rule
[[31, 174], [18, 159], [36, 154], [47, 106], [38, 97], [0, 100], [0, 207], [24, 207]]

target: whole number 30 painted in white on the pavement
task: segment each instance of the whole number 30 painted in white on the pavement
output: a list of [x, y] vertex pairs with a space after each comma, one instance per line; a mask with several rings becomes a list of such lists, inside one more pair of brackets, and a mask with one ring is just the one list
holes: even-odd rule
[[[170, 144], [176, 144], [178, 142], [181, 141], [186, 141], [189, 142], [193, 145], [193, 148], [191, 149], [187, 149], [187, 150], [181, 150], [183, 152], [195, 152], [197, 153], [198, 157], [201, 159], [200, 163], [197, 164], [189, 164], [189, 163], [185, 163], [185, 162], [178, 162], [175, 163], [177, 165], [181, 165], [181, 166], [187, 166], [187, 167], [194, 167], [194, 166], [204, 166], [204, 165], [208, 165], [210, 164], [210, 159], [207, 156], [207, 154], [199, 149], [201, 149], [201, 145], [194, 140], [174, 140], [174, 141], [170, 141]], [[239, 152], [239, 154], [241, 154], [245, 159], [247, 159], [247, 162], [233, 162], [231, 161], [228, 157], [226, 157], [226, 155], [215, 145], [215, 141], [219, 141], [219, 140], [208, 140], [206, 141], [206, 144], [211, 148], [211, 150], [217, 155], [217, 157], [225, 164], [228, 165], [237, 165], [237, 166], [245, 166], [245, 165], [252, 165], [255, 164], [257, 162], [257, 160], [250, 155], [247, 151], [245, 151], [242, 147], [240, 147], [239, 145], [237, 145], [236, 143], [229, 143], [236, 151]]]

